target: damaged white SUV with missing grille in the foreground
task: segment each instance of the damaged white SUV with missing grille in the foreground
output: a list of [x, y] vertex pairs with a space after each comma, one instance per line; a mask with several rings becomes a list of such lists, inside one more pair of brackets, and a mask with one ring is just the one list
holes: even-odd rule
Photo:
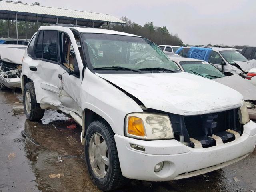
[[22, 66], [24, 110], [55, 109], [82, 126], [92, 181], [168, 181], [237, 162], [255, 147], [256, 124], [240, 93], [181, 73], [150, 40], [112, 30], [41, 26]]

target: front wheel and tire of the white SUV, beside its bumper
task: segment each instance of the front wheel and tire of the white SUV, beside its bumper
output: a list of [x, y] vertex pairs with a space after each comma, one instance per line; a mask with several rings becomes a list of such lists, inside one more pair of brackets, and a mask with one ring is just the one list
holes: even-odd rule
[[[97, 150], [100, 149], [101, 156], [95, 155], [95, 152], [91, 147], [93, 144], [97, 146], [96, 137], [98, 136], [100, 138], [100, 144], [96, 147], [95, 151], [97, 152]], [[114, 139], [114, 132], [111, 127], [104, 120], [94, 121], [88, 126], [85, 138], [85, 161], [92, 182], [100, 190], [104, 191], [110, 191], [124, 186], [124, 184], [128, 182], [128, 179], [122, 176], [116, 142]], [[101, 150], [101, 146], [104, 142], [106, 142], [106, 152]], [[99, 176], [97, 171], [101, 173], [100, 164], [102, 164], [103, 161], [101, 160], [102, 162], [98, 163], [98, 160], [96, 160], [96, 158], [94, 159], [94, 157], [102, 159], [102, 156], [105, 156], [105, 154], [106, 157], [108, 156], [108, 166], [106, 166], [106, 164], [104, 165], [104, 171], [106, 171], [105, 176], [104, 174]], [[92, 159], [96, 160], [96, 168], [95, 166], [94, 168], [92, 166], [92, 162], [94, 162]]]

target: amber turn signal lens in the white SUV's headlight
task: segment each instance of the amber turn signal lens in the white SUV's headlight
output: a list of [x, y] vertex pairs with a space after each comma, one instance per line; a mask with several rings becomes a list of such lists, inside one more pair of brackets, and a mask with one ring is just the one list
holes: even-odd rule
[[136, 136], [145, 136], [144, 125], [141, 118], [130, 116], [128, 119], [128, 133]]

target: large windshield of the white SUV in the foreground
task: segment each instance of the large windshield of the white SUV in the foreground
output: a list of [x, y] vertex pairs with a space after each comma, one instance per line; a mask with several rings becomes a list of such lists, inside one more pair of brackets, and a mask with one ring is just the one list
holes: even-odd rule
[[146, 38], [95, 33], [84, 33], [82, 38], [93, 69], [115, 67], [144, 69], [143, 72], [148, 68], [178, 70], [178, 66]]

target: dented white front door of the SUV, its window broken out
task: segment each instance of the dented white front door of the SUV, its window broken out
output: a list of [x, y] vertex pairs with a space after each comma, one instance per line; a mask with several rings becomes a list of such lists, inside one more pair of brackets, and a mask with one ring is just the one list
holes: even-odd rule
[[[78, 49], [81, 49], [78, 35], [73, 34], [70, 29], [59, 32], [60, 58], [60, 102], [69, 111], [76, 112], [82, 117], [82, 103], [80, 98], [80, 85], [82, 83], [83, 64]], [[74, 71], [78, 71], [74, 74]]]

